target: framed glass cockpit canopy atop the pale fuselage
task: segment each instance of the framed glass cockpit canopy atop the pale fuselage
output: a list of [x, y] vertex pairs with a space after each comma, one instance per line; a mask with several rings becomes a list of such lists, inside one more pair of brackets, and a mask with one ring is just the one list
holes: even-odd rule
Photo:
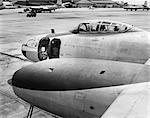
[[114, 21], [87, 21], [80, 23], [71, 32], [78, 33], [123, 33], [131, 31], [133, 26]]

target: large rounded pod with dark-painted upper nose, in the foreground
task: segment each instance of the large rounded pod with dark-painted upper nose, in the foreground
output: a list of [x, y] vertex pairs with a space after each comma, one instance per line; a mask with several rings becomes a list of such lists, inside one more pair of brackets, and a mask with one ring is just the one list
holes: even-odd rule
[[122, 90], [149, 77], [148, 65], [62, 58], [23, 67], [12, 85], [26, 102], [64, 118], [99, 118]]

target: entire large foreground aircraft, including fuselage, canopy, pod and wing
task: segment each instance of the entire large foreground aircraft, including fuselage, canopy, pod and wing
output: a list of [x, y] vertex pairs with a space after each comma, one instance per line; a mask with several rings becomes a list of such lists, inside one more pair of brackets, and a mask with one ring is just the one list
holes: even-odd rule
[[149, 117], [148, 32], [96, 20], [80, 23], [72, 33], [37, 40], [24, 50], [46, 51], [49, 59], [21, 68], [8, 81], [31, 105], [27, 118], [34, 106], [64, 118]]

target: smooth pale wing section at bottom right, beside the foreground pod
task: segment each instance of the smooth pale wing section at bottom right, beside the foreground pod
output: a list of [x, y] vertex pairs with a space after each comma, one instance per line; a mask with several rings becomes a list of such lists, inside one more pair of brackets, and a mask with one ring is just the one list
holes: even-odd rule
[[102, 118], [149, 118], [150, 83], [125, 87]]

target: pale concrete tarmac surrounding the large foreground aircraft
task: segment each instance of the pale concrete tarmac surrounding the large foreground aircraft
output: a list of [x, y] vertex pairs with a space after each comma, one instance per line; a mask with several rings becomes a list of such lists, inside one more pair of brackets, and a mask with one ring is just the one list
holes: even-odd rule
[[[0, 10], [0, 118], [25, 118], [29, 109], [29, 104], [20, 100], [7, 84], [16, 70], [32, 63], [21, 54], [21, 44], [36, 35], [50, 33], [52, 28], [56, 33], [68, 32], [80, 22], [94, 19], [125, 22], [150, 31], [149, 11], [62, 8], [53, 13], [39, 13], [37, 17], [27, 18], [23, 9]], [[34, 109], [33, 118], [51, 117], [50, 113]]]

